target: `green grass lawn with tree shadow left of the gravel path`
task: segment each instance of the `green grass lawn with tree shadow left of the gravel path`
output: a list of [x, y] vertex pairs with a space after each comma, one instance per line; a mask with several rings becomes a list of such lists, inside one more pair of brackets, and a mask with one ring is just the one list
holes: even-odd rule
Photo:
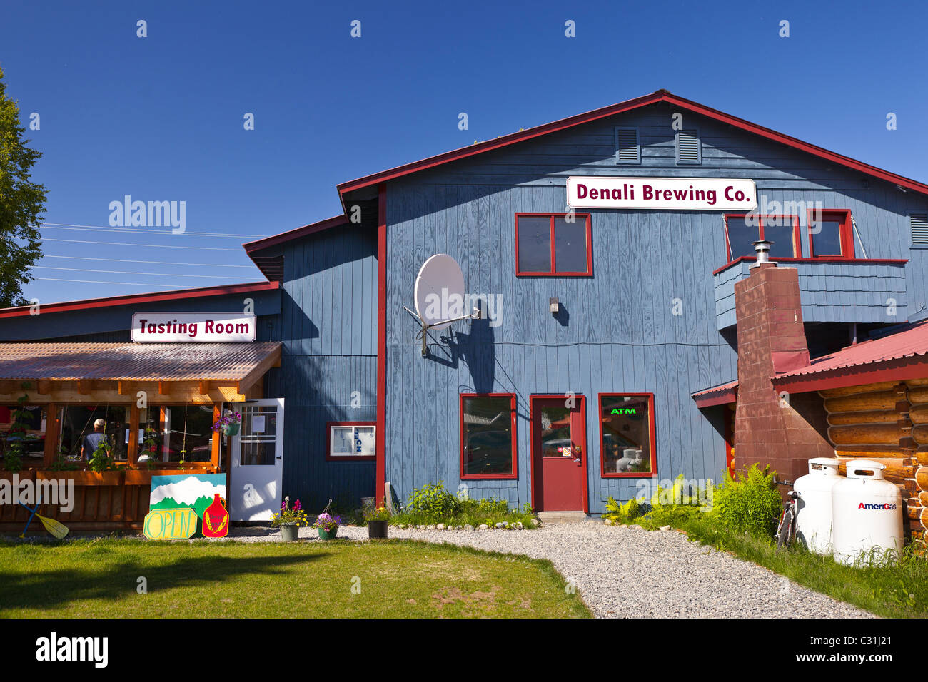
[[402, 540], [0, 542], [6, 618], [590, 617], [565, 586], [546, 560]]

